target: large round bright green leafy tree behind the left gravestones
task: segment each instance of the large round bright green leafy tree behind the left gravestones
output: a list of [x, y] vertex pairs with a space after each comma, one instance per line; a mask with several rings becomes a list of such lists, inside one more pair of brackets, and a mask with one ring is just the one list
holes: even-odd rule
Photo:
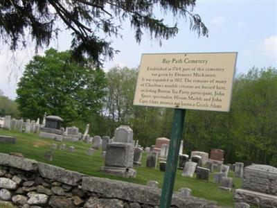
[[102, 107], [105, 95], [105, 73], [71, 62], [69, 51], [55, 49], [36, 55], [24, 71], [17, 89], [17, 102], [22, 116], [42, 117], [44, 112], [61, 116], [64, 121], [86, 120]]

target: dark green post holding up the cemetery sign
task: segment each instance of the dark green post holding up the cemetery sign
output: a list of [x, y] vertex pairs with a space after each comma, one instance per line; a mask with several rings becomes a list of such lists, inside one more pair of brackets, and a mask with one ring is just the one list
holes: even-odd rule
[[171, 204], [185, 115], [185, 109], [174, 110], [172, 130], [170, 135], [170, 146], [168, 151], [168, 159], [166, 162], [166, 173], [163, 177], [163, 189], [161, 191], [160, 208], [169, 208]]

